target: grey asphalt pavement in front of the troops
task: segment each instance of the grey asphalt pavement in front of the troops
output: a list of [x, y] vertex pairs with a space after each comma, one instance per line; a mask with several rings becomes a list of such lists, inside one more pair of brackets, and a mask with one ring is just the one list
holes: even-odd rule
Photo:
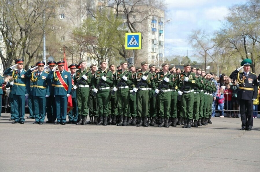
[[[25, 117], [29, 114], [25, 114]], [[185, 129], [12, 124], [0, 119], [0, 171], [260, 171], [260, 119]], [[46, 118], [47, 119], [47, 118]]]

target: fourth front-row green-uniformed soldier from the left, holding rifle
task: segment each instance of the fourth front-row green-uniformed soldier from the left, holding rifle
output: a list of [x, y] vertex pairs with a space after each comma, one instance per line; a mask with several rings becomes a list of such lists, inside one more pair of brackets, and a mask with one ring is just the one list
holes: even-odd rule
[[[147, 62], [141, 63], [142, 70], [135, 74], [133, 79], [133, 91], [137, 92], [137, 116], [139, 117], [139, 123], [137, 127], [142, 126], [148, 127], [147, 117], [148, 117], [148, 106], [149, 106], [149, 87], [151, 87], [151, 73], [147, 71]], [[137, 84], [141, 82], [139, 88], [136, 88]], [[144, 122], [144, 123], [143, 123]]]

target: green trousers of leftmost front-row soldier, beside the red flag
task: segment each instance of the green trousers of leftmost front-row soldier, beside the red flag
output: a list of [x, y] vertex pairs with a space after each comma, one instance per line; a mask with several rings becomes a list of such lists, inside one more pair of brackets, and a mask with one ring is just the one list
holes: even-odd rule
[[88, 116], [88, 98], [90, 93], [89, 87], [77, 88], [78, 114]]

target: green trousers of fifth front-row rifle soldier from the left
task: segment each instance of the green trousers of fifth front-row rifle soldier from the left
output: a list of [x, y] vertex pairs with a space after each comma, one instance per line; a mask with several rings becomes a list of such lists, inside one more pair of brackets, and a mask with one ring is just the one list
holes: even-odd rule
[[169, 118], [171, 105], [171, 91], [160, 91], [158, 94], [158, 100], [161, 118]]

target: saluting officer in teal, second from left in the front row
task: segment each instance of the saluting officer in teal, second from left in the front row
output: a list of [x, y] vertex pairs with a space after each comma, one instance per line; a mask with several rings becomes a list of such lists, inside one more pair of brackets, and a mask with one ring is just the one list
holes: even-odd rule
[[[43, 124], [46, 114], [46, 97], [50, 93], [47, 90], [48, 74], [44, 72], [45, 62], [40, 61], [36, 66], [25, 73], [26, 77], [31, 77], [33, 87], [31, 89], [31, 96], [33, 97], [35, 122], [33, 124]], [[38, 69], [38, 70], [37, 70]]]

